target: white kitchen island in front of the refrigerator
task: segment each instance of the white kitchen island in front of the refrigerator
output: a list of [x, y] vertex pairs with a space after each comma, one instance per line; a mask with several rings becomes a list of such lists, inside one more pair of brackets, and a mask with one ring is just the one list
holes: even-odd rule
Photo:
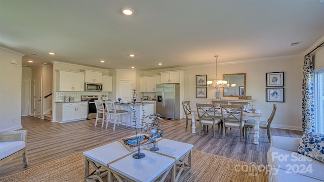
[[[141, 121], [144, 117], [144, 123], [150, 123], [151, 119], [149, 117], [146, 117], [147, 115], [154, 113], [154, 103], [149, 102], [135, 102], [133, 103], [119, 103], [115, 102], [116, 109], [121, 109], [128, 111], [128, 118], [127, 118], [127, 125], [132, 127], [141, 127]], [[133, 106], [135, 107], [135, 114], [136, 114], [136, 125], [134, 123], [134, 114], [133, 114]], [[144, 108], [144, 112], [143, 112]], [[146, 118], [145, 118], [146, 117]]]

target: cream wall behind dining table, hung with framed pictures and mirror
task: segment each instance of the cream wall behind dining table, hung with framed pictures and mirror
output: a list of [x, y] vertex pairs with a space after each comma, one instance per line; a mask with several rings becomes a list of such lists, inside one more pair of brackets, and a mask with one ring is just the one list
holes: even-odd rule
[[[215, 99], [215, 88], [207, 87], [207, 99], [195, 98], [195, 75], [207, 74], [207, 80], [215, 79], [215, 64], [192, 68], [181, 68], [185, 71], [185, 99], [190, 101], [191, 108], [196, 103], [211, 102]], [[303, 56], [281, 58], [278, 60], [258, 61], [241, 64], [218, 65], [218, 78], [223, 74], [246, 73], [246, 95], [256, 100], [256, 109], [263, 112], [262, 120], [267, 120], [272, 105], [277, 104], [277, 112], [272, 121], [272, 127], [301, 130], [301, 122], [297, 118], [302, 117], [302, 69]], [[266, 73], [281, 72], [285, 75], [285, 102], [266, 102]], [[233, 98], [231, 98], [233, 99]]]

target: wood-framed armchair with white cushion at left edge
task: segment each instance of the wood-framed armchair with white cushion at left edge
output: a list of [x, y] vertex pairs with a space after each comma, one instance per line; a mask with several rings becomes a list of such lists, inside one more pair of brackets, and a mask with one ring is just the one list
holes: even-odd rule
[[0, 165], [21, 155], [28, 165], [27, 130], [0, 131]]

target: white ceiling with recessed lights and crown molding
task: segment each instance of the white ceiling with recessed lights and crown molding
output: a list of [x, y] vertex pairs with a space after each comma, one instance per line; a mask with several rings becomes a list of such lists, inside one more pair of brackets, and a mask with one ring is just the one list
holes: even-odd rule
[[244, 62], [302, 55], [322, 36], [319, 0], [0, 0], [0, 45], [25, 54], [27, 67], [151, 70], [212, 64], [214, 55]]

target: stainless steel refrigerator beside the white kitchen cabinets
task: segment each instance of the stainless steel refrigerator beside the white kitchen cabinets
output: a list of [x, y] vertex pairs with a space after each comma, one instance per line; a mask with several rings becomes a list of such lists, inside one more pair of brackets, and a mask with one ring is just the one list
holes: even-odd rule
[[179, 119], [180, 86], [179, 84], [156, 85], [156, 113], [165, 119]]

